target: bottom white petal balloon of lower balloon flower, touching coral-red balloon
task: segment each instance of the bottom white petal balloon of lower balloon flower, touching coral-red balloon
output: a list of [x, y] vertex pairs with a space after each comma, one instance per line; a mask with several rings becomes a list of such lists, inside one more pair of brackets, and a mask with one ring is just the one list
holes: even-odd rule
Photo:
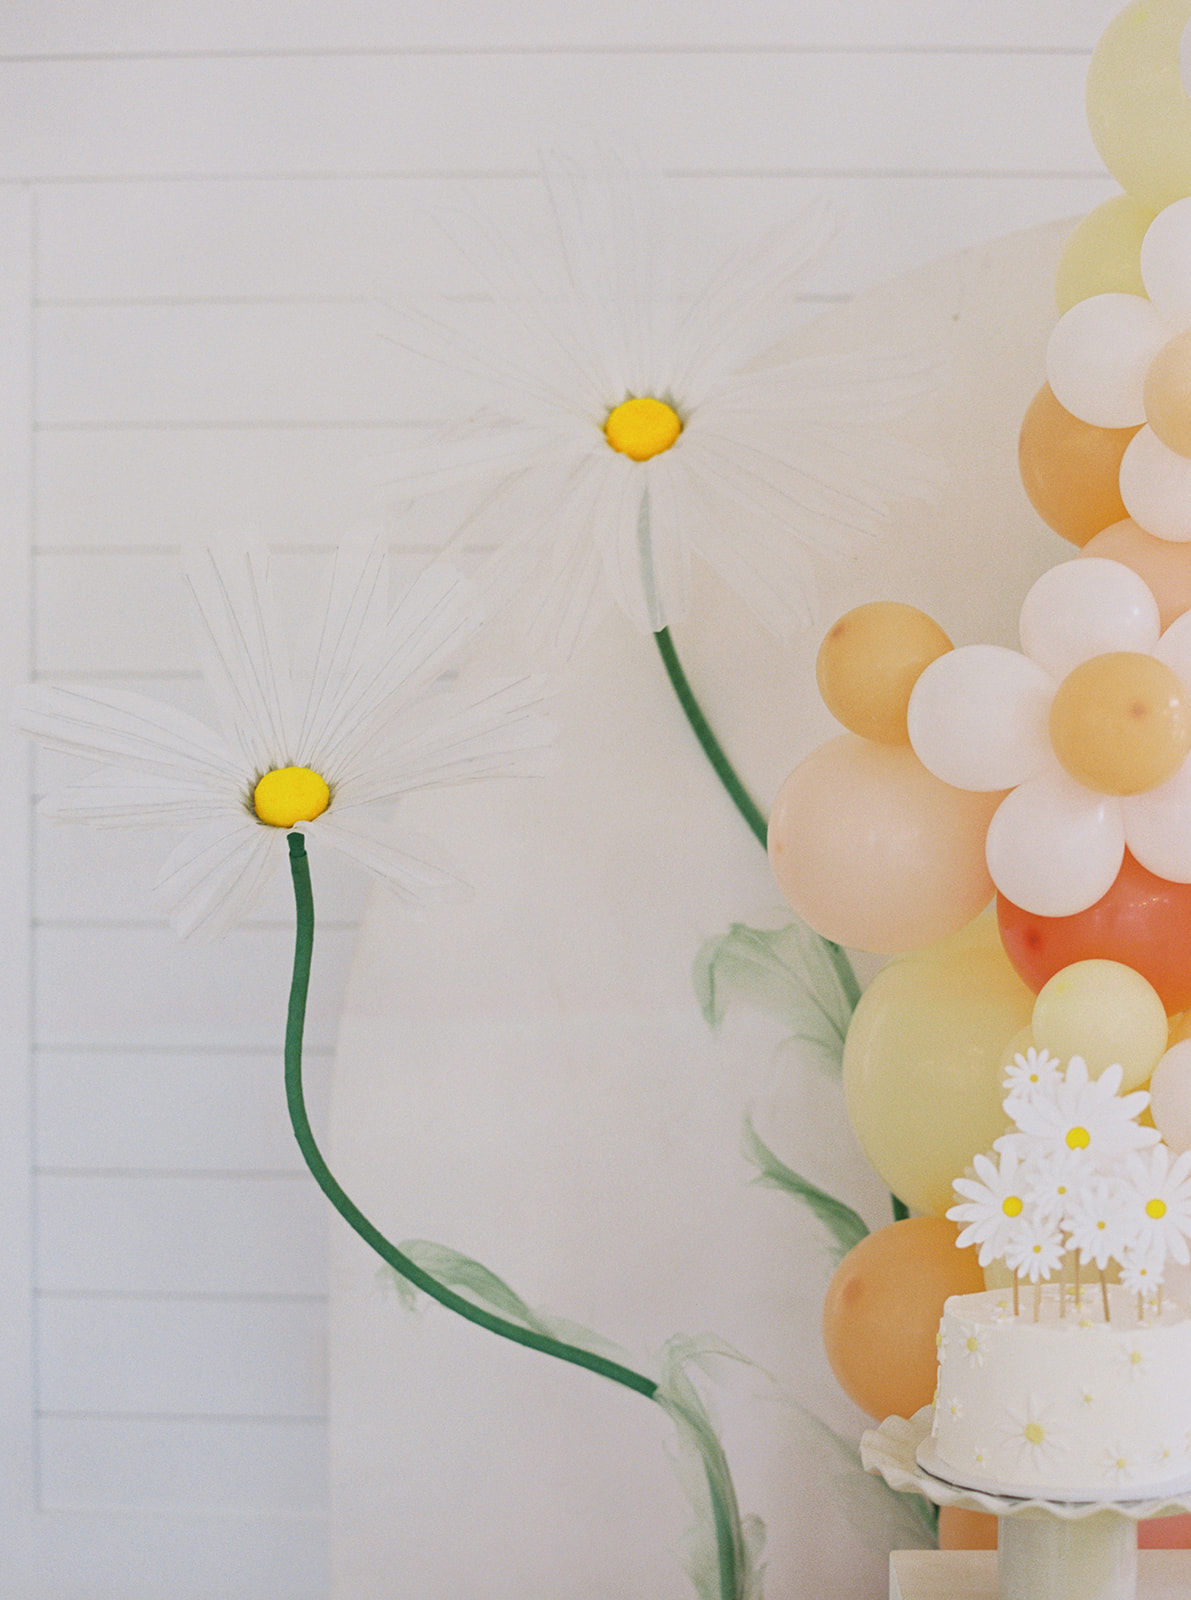
[[1125, 859], [1121, 802], [1052, 771], [1005, 795], [984, 842], [1001, 893], [1036, 917], [1071, 917], [1106, 894]]

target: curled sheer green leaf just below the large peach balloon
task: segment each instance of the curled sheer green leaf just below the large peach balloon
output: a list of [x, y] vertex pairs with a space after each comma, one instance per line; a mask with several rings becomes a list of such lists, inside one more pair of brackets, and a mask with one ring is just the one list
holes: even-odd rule
[[813, 1059], [839, 1077], [853, 998], [824, 941], [805, 923], [749, 928], [733, 923], [695, 957], [695, 992], [703, 1014], [719, 1027], [733, 1002], [778, 1018]]

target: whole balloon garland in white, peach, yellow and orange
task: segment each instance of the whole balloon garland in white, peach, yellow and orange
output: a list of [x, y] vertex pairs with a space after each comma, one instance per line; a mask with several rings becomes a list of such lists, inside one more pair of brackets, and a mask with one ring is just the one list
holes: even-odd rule
[[917, 1214], [844, 1258], [823, 1318], [872, 1416], [930, 1400], [943, 1299], [983, 1286], [946, 1213], [1021, 1053], [1148, 1088], [1154, 1138], [1191, 1150], [1191, 0], [1117, 16], [1087, 109], [1122, 194], [1063, 251], [1018, 451], [1076, 550], [1025, 595], [1020, 650], [882, 600], [837, 619], [816, 677], [845, 731], [768, 827], [794, 910], [888, 957], [845, 1104]]

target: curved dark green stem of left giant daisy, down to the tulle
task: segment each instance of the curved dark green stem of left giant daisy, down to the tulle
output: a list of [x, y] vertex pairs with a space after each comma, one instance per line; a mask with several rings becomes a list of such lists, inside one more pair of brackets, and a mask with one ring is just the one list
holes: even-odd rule
[[439, 1301], [440, 1306], [458, 1312], [458, 1315], [466, 1317], [467, 1322], [479, 1323], [479, 1326], [487, 1328], [488, 1333], [496, 1333], [504, 1339], [512, 1339], [515, 1344], [525, 1344], [531, 1350], [541, 1350], [544, 1355], [554, 1355], [560, 1362], [571, 1362], [575, 1366], [586, 1366], [587, 1371], [599, 1373], [600, 1378], [610, 1378], [613, 1382], [623, 1384], [626, 1389], [636, 1389], [637, 1394], [652, 1400], [658, 1392], [658, 1386], [653, 1379], [645, 1378], [640, 1373], [634, 1373], [631, 1368], [621, 1366], [620, 1362], [612, 1362], [592, 1350], [584, 1350], [573, 1344], [563, 1344], [560, 1339], [549, 1338], [549, 1334], [536, 1333], [531, 1328], [522, 1328], [515, 1322], [507, 1322], [504, 1317], [496, 1317], [491, 1312], [483, 1310], [483, 1307], [475, 1306], [472, 1301], [464, 1299], [464, 1296], [456, 1294], [443, 1283], [439, 1283], [439, 1280], [423, 1270], [416, 1261], [411, 1261], [403, 1251], [392, 1245], [339, 1186], [339, 1181], [331, 1173], [330, 1166], [323, 1160], [319, 1144], [315, 1142], [311, 1130], [311, 1118], [306, 1110], [306, 1094], [303, 1091], [303, 1034], [306, 1029], [306, 997], [311, 986], [311, 957], [314, 952], [314, 896], [311, 891], [311, 864], [306, 856], [306, 840], [301, 834], [290, 834], [288, 842], [290, 874], [293, 877], [296, 906], [296, 931], [293, 981], [290, 984], [290, 1006], [285, 1021], [285, 1098], [290, 1107], [290, 1122], [293, 1125], [295, 1138], [298, 1139], [298, 1149], [303, 1152], [303, 1158], [309, 1166], [314, 1181], [319, 1184], [344, 1222], [347, 1222], [347, 1226], [360, 1235], [365, 1245], [370, 1245], [376, 1251], [381, 1261], [392, 1267], [394, 1272], [400, 1274], [400, 1277], [407, 1282], [413, 1283], [415, 1288], [429, 1294], [431, 1299]]

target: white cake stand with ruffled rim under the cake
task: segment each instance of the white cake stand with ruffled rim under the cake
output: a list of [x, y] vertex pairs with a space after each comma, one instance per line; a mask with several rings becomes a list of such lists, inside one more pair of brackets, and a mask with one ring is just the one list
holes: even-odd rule
[[1137, 1523], [1191, 1510], [1191, 1491], [1146, 1501], [1045, 1501], [984, 1494], [925, 1472], [916, 1459], [932, 1406], [887, 1418], [860, 1442], [866, 1472], [935, 1506], [997, 1518], [997, 1600], [1135, 1600]]

